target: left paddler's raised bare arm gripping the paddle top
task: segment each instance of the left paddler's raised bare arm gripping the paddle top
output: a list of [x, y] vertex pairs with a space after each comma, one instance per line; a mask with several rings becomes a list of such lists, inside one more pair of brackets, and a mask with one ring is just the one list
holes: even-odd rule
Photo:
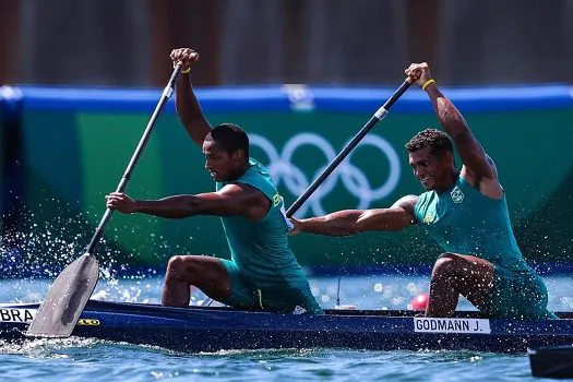
[[[187, 70], [191, 69], [193, 62], [199, 60], [199, 53], [189, 48], [174, 49], [170, 58], [174, 64], [180, 62], [182, 64], [182, 71], [187, 72]], [[179, 120], [193, 141], [202, 145], [205, 135], [211, 131], [212, 127], [205, 119], [205, 116], [203, 116], [201, 106], [193, 93], [190, 73], [179, 75], [176, 84], [175, 99]]]

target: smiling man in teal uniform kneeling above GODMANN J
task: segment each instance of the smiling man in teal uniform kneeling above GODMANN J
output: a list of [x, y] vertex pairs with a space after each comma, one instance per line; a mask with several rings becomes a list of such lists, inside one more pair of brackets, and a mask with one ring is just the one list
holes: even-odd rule
[[414, 175], [427, 192], [404, 196], [390, 208], [291, 219], [293, 232], [344, 236], [421, 224], [444, 250], [432, 270], [427, 317], [451, 317], [463, 295], [486, 317], [556, 318], [547, 310], [542, 279], [527, 266], [515, 241], [493, 160], [438, 89], [427, 63], [413, 63], [406, 74], [428, 93], [447, 133], [426, 129], [406, 144]]

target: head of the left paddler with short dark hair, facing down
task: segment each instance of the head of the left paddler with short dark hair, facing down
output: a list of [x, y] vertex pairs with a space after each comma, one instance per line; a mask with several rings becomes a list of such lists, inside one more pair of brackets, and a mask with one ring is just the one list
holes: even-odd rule
[[232, 123], [222, 123], [203, 141], [205, 168], [215, 181], [239, 178], [249, 167], [249, 136]]

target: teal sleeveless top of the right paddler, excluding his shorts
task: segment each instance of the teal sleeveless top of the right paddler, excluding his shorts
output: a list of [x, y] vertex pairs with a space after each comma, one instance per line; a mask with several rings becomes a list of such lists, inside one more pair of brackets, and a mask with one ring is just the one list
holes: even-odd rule
[[510, 271], [533, 271], [513, 235], [505, 194], [493, 200], [458, 176], [445, 192], [422, 193], [414, 215], [446, 252], [476, 255]]

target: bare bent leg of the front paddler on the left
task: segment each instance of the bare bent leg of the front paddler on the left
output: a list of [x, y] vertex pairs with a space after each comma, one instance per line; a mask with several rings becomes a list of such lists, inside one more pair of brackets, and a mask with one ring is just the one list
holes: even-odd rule
[[188, 307], [191, 286], [217, 301], [229, 298], [230, 277], [223, 261], [202, 255], [176, 255], [169, 259], [162, 303], [166, 307]]

